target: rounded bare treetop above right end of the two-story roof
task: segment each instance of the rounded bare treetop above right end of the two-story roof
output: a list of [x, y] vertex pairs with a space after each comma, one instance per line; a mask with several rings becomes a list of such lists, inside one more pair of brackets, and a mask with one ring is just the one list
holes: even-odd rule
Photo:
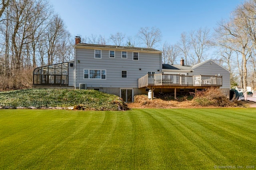
[[158, 43], [161, 42], [162, 33], [159, 30], [159, 28], [144, 27], [144, 28], [140, 28], [140, 30], [138, 31], [137, 37], [146, 45], [146, 47], [153, 48]]

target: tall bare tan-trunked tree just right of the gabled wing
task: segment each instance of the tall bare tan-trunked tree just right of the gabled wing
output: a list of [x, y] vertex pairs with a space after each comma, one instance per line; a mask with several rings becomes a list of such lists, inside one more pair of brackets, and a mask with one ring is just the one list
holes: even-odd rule
[[[244, 4], [238, 6], [230, 21], [222, 21], [219, 23], [219, 28], [216, 29], [218, 45], [232, 49], [242, 57], [242, 67], [239, 71], [243, 89], [247, 87], [247, 61], [250, 58], [250, 51], [254, 47], [250, 34], [254, 34], [252, 29], [255, 30], [247, 12]], [[241, 62], [241, 59], [238, 62]]]

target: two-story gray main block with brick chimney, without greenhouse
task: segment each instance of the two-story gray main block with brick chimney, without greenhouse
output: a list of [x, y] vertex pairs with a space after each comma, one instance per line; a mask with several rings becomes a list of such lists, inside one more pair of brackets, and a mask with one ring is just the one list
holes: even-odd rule
[[138, 78], [160, 73], [162, 52], [156, 49], [79, 43], [76, 38], [74, 87], [118, 95], [126, 102], [145, 92]]

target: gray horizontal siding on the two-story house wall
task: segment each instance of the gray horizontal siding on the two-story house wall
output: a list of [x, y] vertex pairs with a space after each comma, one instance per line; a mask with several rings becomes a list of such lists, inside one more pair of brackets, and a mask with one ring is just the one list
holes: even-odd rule
[[[95, 59], [94, 49], [76, 48], [76, 87], [79, 83], [86, 83], [88, 88], [138, 88], [138, 79], [148, 71], [160, 73], [161, 53], [134, 51], [139, 52], [139, 61], [133, 61], [132, 51], [124, 51], [127, 51], [127, 59], [122, 59], [118, 50], [115, 51], [115, 58], [109, 58], [108, 49], [102, 49], [102, 58]], [[84, 69], [104, 69], [106, 79], [84, 79]], [[127, 71], [127, 78], [121, 78], [122, 70]]]

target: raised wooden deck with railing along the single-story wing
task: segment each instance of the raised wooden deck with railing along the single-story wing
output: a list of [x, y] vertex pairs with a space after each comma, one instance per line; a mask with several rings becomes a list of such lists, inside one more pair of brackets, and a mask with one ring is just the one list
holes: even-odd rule
[[147, 74], [138, 79], [139, 88], [176, 88], [176, 87], [221, 87], [222, 76], [180, 75], [180, 74]]

